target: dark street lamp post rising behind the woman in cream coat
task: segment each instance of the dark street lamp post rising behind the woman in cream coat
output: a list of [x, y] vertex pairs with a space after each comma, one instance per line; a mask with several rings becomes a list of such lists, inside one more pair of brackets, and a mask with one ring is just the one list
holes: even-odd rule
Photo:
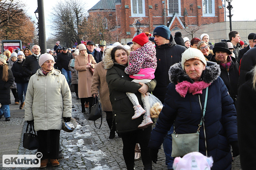
[[46, 53], [46, 38], [45, 38], [45, 16], [44, 16], [44, 3], [43, 0], [37, 0], [38, 8], [35, 11], [36, 18], [38, 19], [39, 27], [39, 46], [41, 54]]

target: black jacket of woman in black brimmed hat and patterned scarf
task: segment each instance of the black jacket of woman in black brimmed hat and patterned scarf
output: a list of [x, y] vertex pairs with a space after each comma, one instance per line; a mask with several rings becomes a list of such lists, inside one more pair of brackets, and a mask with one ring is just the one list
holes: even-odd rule
[[[235, 101], [235, 98], [237, 98], [237, 94], [238, 94], [237, 84], [238, 84], [238, 78], [239, 78], [239, 65], [236, 62], [236, 59], [234, 57], [231, 57], [231, 59], [232, 61], [231, 61], [231, 66], [229, 68], [229, 72], [227, 72], [227, 70], [220, 65], [220, 71], [221, 71], [220, 78], [223, 80], [223, 82], [227, 86], [229, 95]], [[217, 61], [215, 60], [215, 55], [212, 56], [211, 61], [217, 63]], [[232, 90], [230, 88], [232, 88]]]

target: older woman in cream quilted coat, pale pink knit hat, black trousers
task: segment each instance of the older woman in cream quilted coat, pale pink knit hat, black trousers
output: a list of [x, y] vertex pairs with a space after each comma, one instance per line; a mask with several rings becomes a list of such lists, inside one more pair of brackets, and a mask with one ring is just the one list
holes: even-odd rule
[[[47, 166], [48, 158], [52, 166], [59, 166], [57, 157], [62, 120], [69, 122], [71, 118], [71, 92], [65, 76], [54, 69], [54, 62], [49, 53], [40, 56], [41, 68], [30, 77], [25, 99], [25, 121], [34, 122], [39, 140], [38, 151], [42, 153], [40, 168]], [[47, 140], [50, 140], [49, 154]]]

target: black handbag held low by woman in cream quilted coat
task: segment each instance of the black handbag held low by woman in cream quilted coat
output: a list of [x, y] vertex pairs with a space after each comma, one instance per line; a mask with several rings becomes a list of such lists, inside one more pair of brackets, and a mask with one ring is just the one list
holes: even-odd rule
[[[29, 125], [30, 125], [30, 129], [28, 132]], [[32, 122], [27, 124], [26, 133], [23, 134], [23, 147], [28, 150], [36, 150], [39, 148], [39, 141], [34, 128], [34, 123]]]

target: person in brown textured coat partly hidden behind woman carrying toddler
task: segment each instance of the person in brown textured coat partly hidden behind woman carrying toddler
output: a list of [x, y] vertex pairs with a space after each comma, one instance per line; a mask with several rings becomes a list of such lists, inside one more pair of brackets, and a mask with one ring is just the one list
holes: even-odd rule
[[[106, 48], [105, 51], [110, 51], [110, 48]], [[106, 112], [106, 121], [108, 123], [109, 129], [110, 129], [110, 135], [109, 139], [113, 139], [115, 137], [115, 126], [112, 127], [112, 105], [110, 103], [109, 99], [109, 87], [106, 82], [106, 74], [107, 70], [104, 69], [104, 58], [101, 62], [99, 62], [95, 66], [95, 70], [92, 76], [92, 85], [91, 85], [91, 94], [95, 98], [95, 96], [100, 95], [100, 102], [102, 111]]]

